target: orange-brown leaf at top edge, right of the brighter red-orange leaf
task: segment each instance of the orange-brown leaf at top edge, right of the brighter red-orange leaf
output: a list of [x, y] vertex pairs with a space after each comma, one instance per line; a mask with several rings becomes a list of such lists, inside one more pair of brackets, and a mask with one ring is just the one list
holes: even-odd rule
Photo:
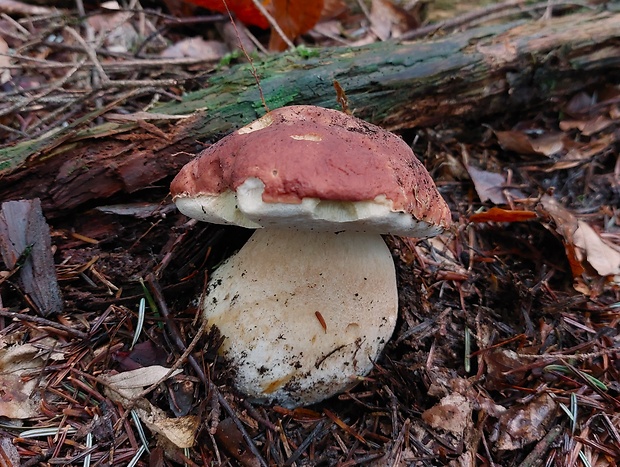
[[[272, 0], [271, 4], [273, 18], [291, 40], [312, 29], [322, 11], [323, 0]], [[275, 31], [271, 31], [269, 50], [286, 50], [286, 43]]]

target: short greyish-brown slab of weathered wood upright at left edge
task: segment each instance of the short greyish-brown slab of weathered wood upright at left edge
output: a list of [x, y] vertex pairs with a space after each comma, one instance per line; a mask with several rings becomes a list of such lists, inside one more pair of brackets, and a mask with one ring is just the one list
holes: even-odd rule
[[38, 199], [2, 203], [0, 252], [36, 311], [43, 316], [62, 311], [50, 229]]

